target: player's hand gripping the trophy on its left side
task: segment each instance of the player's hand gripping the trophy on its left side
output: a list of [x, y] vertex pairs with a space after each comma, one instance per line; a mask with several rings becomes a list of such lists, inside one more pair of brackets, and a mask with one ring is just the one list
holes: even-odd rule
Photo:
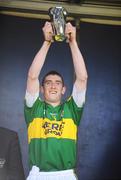
[[51, 23], [46, 21], [42, 30], [43, 30], [45, 41], [53, 42], [53, 29], [52, 29]]

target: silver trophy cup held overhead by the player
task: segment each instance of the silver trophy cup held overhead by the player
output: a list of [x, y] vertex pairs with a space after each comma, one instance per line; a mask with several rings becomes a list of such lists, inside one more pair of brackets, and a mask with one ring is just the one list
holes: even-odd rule
[[67, 11], [63, 7], [51, 7], [48, 11], [53, 28], [54, 40], [64, 41]]

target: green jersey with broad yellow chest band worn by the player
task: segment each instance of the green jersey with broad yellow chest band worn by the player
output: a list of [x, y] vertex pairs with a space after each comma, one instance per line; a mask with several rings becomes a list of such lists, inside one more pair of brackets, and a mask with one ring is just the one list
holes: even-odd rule
[[25, 105], [28, 128], [30, 168], [41, 171], [74, 169], [76, 164], [77, 127], [83, 107], [70, 97], [53, 107], [37, 98], [29, 108]]

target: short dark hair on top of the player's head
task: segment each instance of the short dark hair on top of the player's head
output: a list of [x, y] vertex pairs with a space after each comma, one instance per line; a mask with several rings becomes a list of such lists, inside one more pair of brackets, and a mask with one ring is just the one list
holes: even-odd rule
[[44, 75], [44, 77], [43, 77], [43, 79], [42, 79], [42, 86], [44, 85], [44, 82], [45, 82], [46, 77], [49, 76], [49, 75], [57, 75], [57, 76], [59, 76], [59, 77], [61, 78], [62, 84], [63, 84], [63, 86], [64, 86], [63, 76], [62, 76], [59, 72], [57, 72], [57, 71], [55, 71], [55, 70], [51, 70], [51, 71], [49, 71], [47, 74]]

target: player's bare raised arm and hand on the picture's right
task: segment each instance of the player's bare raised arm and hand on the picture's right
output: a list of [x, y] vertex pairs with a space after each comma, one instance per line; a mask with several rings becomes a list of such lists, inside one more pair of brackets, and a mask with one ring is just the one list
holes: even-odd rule
[[75, 86], [77, 90], [80, 91], [86, 89], [88, 75], [83, 56], [76, 41], [76, 28], [72, 26], [71, 23], [67, 23], [65, 33], [68, 38], [68, 43], [72, 53], [74, 70], [76, 75]]

